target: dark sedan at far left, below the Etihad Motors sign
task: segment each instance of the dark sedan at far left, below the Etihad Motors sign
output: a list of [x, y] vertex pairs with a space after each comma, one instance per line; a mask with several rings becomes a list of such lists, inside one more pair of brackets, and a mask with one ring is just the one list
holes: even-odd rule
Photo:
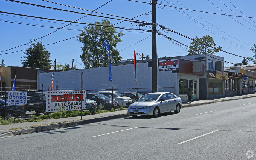
[[[4, 117], [5, 101], [0, 99], [0, 116]], [[6, 118], [23, 116], [26, 114], [23, 106], [8, 106], [8, 101], [6, 101]]]

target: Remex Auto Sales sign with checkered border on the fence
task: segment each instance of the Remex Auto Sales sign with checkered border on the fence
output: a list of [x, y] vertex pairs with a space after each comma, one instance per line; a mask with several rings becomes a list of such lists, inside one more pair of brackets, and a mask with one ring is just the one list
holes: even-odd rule
[[46, 112], [86, 109], [85, 90], [82, 91], [46, 91]]

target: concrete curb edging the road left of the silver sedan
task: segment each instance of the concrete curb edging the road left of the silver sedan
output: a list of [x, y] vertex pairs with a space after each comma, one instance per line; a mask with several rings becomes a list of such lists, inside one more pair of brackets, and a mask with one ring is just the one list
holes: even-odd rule
[[0, 134], [0, 137], [16, 136], [19, 134], [29, 134], [29, 133], [34, 133], [34, 132], [54, 130], [54, 129], [59, 129], [59, 128], [71, 127], [71, 126], [75, 126], [75, 125], [83, 125], [83, 124], [107, 121], [107, 120], [118, 119], [118, 118], [126, 118], [126, 117], [129, 117], [129, 115], [121, 114], [121, 115], [106, 116], [106, 117], [99, 117], [99, 118], [93, 118], [93, 119], [83, 119], [83, 120], [71, 121], [71, 122], [62, 122], [62, 123], [57, 123], [57, 124], [48, 124], [48, 125], [43, 125], [43, 126], [37, 126], [37, 127], [31, 127], [31, 128], [25, 128], [25, 129], [15, 130], [15, 131], [11, 131], [11, 132], [6, 132], [3, 134]]

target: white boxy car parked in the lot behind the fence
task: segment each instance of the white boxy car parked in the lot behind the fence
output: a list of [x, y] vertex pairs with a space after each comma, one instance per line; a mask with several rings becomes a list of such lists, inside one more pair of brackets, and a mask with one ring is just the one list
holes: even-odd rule
[[[100, 93], [104, 94], [105, 96], [112, 97], [112, 91], [99, 91], [94, 93]], [[120, 107], [128, 107], [130, 104], [132, 104], [132, 99], [130, 97], [123, 96], [120, 92], [114, 91], [113, 99], [118, 101]]]

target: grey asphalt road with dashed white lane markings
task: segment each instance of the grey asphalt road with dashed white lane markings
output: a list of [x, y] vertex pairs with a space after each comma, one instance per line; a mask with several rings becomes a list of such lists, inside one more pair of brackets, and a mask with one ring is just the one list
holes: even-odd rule
[[255, 104], [240, 99], [4, 137], [0, 159], [256, 159]]

